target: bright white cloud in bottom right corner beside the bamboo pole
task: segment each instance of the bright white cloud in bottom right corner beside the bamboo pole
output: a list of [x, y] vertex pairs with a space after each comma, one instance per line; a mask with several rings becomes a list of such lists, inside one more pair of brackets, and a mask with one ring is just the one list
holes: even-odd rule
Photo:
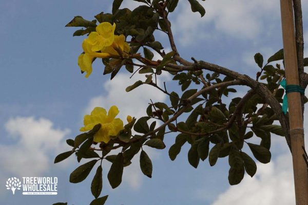
[[256, 176], [245, 176], [239, 185], [220, 194], [212, 205], [295, 204], [291, 154], [269, 164], [257, 163]]

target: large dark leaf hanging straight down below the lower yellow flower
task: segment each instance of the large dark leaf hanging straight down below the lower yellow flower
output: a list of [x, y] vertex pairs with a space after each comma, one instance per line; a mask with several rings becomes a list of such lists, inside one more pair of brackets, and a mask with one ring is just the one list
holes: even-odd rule
[[115, 158], [115, 160], [113, 161], [107, 175], [112, 189], [117, 188], [122, 182], [123, 167], [124, 167], [123, 163], [124, 163], [123, 154], [119, 153], [117, 155], [117, 158]]

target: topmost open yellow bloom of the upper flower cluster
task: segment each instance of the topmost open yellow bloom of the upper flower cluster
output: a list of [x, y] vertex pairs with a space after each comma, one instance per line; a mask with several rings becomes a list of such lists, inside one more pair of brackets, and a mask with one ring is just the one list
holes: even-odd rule
[[97, 32], [91, 32], [88, 36], [92, 51], [102, 50], [113, 43], [115, 24], [111, 25], [108, 22], [103, 22], [95, 29]]

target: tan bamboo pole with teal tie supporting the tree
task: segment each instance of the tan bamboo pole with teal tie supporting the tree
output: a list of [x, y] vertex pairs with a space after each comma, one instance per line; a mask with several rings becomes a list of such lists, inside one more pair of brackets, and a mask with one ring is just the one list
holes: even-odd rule
[[[280, 0], [286, 84], [299, 85], [292, 0]], [[308, 205], [308, 174], [303, 158], [304, 132], [299, 92], [287, 94], [296, 205]]]

